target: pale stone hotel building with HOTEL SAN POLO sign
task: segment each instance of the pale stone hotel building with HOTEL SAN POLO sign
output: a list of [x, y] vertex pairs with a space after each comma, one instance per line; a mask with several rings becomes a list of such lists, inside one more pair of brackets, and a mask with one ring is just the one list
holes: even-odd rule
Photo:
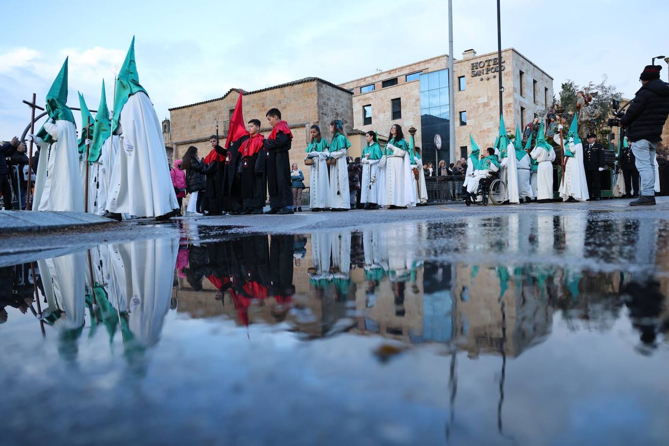
[[[481, 147], [492, 145], [499, 126], [499, 66], [504, 86], [503, 110], [506, 130], [521, 131], [535, 114], [553, 101], [553, 78], [514, 48], [477, 55], [464, 51], [454, 61], [454, 100], [456, 116], [456, 156], [470, 151], [469, 134]], [[422, 60], [341, 84], [353, 94], [353, 126], [359, 130], [389, 133], [393, 124], [417, 128], [416, 144], [423, 158], [436, 162], [449, 159], [450, 94], [448, 55]], [[437, 151], [435, 134], [442, 137]]]

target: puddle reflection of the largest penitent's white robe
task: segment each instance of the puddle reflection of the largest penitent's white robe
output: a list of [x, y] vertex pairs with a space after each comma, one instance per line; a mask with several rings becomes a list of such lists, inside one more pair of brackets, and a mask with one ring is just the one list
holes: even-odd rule
[[[156, 344], [163, 330], [172, 298], [178, 250], [177, 239], [150, 239], [112, 245], [112, 261], [116, 263], [114, 273], [122, 276], [117, 278], [124, 297], [128, 298], [121, 305], [130, 310], [128, 326], [144, 346]], [[117, 265], [122, 265], [123, 270], [118, 271]], [[116, 306], [113, 296], [110, 296], [110, 303]]]

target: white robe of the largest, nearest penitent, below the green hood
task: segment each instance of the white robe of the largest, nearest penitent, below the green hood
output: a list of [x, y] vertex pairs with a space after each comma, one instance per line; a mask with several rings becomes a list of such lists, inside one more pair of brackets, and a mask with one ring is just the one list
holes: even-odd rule
[[[161, 124], [149, 96], [130, 96], [119, 121], [120, 149], [113, 160], [107, 210], [160, 217], [178, 209]], [[132, 144], [132, 150], [128, 152], [124, 142]]]

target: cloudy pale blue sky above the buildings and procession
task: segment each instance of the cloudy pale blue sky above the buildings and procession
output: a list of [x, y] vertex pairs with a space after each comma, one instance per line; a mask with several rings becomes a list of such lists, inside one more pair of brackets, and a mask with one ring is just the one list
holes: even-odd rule
[[[454, 54], [496, 50], [496, 2], [454, 0]], [[332, 2], [126, 1], [98, 10], [90, 1], [3, 0], [0, 40], [0, 140], [21, 134], [29, 108], [44, 102], [70, 56], [71, 106], [77, 90], [112, 99], [112, 68], [132, 35], [140, 82], [159, 119], [168, 108], [308, 76], [341, 83], [448, 53], [446, 0]], [[284, 5], [277, 7], [276, 5]], [[650, 58], [669, 55], [669, 2], [502, 0], [502, 47], [515, 47], [555, 78], [585, 84], [603, 74], [625, 96], [639, 87]], [[89, 20], [86, 23], [86, 20]], [[629, 31], [618, 31], [620, 26]], [[667, 66], [662, 65], [662, 78]], [[75, 113], [77, 120], [78, 113]]]

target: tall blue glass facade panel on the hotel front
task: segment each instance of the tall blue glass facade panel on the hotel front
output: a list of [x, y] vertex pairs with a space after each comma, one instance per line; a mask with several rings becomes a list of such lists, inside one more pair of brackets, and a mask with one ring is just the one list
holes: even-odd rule
[[[450, 162], [450, 97], [448, 93], [448, 69], [420, 75], [420, 146], [425, 162], [438, 160]], [[437, 153], [434, 136], [442, 136], [442, 148]], [[416, 142], [418, 144], [418, 142]]]

